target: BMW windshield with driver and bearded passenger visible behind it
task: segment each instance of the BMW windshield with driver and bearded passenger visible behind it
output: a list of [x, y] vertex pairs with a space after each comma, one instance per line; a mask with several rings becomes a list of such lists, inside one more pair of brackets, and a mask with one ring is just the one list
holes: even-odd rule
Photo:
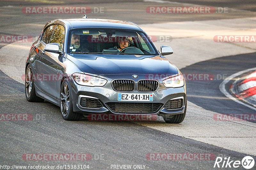
[[79, 28], [68, 36], [68, 53], [157, 55], [143, 32], [127, 29]]

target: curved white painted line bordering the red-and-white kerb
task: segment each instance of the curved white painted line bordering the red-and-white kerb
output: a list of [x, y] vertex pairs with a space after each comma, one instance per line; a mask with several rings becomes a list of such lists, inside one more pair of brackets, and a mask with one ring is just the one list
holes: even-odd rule
[[237, 73], [235, 73], [235, 74], [232, 74], [232, 75], [228, 76], [224, 81], [222, 81], [222, 82], [220, 83], [219, 88], [220, 88], [220, 91], [221, 91], [225, 96], [227, 96], [229, 99], [233, 100], [234, 102], [239, 103], [239, 104], [242, 104], [242, 105], [244, 105], [244, 106], [246, 106], [246, 107], [248, 107], [248, 108], [250, 108], [250, 109], [252, 109], [252, 110], [256, 110], [256, 108], [255, 108], [256, 105], [255, 105], [255, 104], [250, 103], [250, 104], [252, 104], [252, 105], [254, 106], [254, 107], [252, 107], [252, 106], [250, 106], [250, 105], [248, 105], [248, 104], [246, 104], [246, 103], [243, 103], [243, 102], [237, 100], [237, 99], [236, 99], [235, 97], [233, 97], [231, 94], [229, 94], [228, 91], [225, 89], [225, 85], [226, 85], [230, 80], [234, 79], [235, 77], [237, 77], [237, 76], [239, 76], [239, 75], [241, 75], [241, 74], [244, 74], [244, 73], [246, 73], [246, 72], [248, 72], [248, 71], [252, 71], [252, 70], [256, 70], [256, 67], [254, 67], [254, 68], [249, 68], [249, 69], [243, 70], [243, 71], [239, 71], [239, 72], [237, 72]]

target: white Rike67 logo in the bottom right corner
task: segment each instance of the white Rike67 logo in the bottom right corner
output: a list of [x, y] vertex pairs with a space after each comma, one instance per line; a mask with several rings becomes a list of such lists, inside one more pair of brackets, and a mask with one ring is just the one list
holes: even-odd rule
[[221, 157], [217, 157], [214, 163], [214, 168], [238, 168], [241, 165], [245, 169], [251, 169], [254, 166], [255, 162], [251, 156], [245, 156], [242, 161], [240, 160], [230, 160], [230, 157], [225, 157], [224, 159]]

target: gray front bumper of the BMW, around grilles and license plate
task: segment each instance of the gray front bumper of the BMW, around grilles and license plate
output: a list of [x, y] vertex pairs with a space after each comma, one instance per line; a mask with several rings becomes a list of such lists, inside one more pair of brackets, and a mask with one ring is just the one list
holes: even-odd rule
[[[120, 76], [120, 75], [119, 75]], [[120, 76], [122, 77], [122, 76]], [[124, 115], [159, 115], [159, 116], [171, 116], [176, 114], [182, 114], [185, 110], [185, 102], [186, 102], [186, 85], [180, 88], [166, 88], [162, 84], [161, 81], [159, 84], [159, 88], [155, 92], [139, 92], [137, 88], [133, 92], [118, 92], [115, 91], [111, 86], [111, 81], [113, 78], [106, 78], [108, 80], [107, 84], [103, 87], [88, 87], [78, 85], [72, 78], [70, 78], [70, 85], [72, 87], [71, 96], [73, 101], [73, 111], [82, 114], [91, 114], [91, 113], [113, 113], [113, 114], [124, 114]], [[115, 76], [116, 78], [116, 76]], [[119, 77], [117, 77], [119, 78]], [[123, 77], [122, 77], [123, 78]], [[125, 79], [125, 78], [124, 78]], [[139, 80], [139, 79], [138, 79]], [[135, 80], [135, 85], [137, 85], [137, 81]], [[125, 103], [126, 101], [117, 101], [118, 93], [150, 93], [153, 94], [152, 102], [136, 102], [136, 103], [161, 103], [161, 106], [158, 110], [150, 113], [142, 113], [142, 112], [115, 112], [111, 110], [106, 103], [109, 102], [119, 102]], [[99, 109], [94, 108], [85, 108], [80, 105], [80, 100], [82, 97], [98, 99], [103, 107]], [[183, 98], [183, 105], [180, 109], [168, 110], [164, 108], [164, 105], [171, 99], [174, 98]], [[126, 102], [127, 103], [127, 102]]]

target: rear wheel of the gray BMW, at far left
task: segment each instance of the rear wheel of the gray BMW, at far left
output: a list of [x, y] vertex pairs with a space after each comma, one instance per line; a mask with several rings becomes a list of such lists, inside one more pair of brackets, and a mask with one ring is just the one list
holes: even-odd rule
[[26, 68], [25, 94], [28, 102], [44, 102], [44, 99], [36, 96], [33, 73], [30, 65]]

